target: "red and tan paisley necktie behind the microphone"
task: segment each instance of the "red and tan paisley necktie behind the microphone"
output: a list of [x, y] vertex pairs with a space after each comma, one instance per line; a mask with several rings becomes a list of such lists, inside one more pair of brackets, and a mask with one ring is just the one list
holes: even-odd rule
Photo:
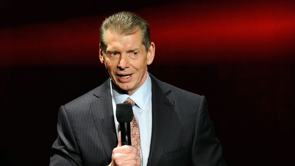
[[[130, 102], [132, 107], [135, 105], [135, 102], [131, 100], [129, 97], [124, 102]], [[130, 122], [131, 128], [131, 145], [136, 149], [137, 165], [140, 165], [140, 137], [139, 137], [139, 128], [138, 123], [136, 121], [135, 116], [133, 115], [133, 119]]]

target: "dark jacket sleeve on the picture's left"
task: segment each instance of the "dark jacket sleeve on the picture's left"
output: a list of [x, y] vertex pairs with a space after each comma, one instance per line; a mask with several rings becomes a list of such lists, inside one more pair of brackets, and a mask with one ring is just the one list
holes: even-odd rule
[[79, 148], [64, 106], [61, 106], [58, 112], [57, 132], [58, 137], [51, 148], [50, 166], [83, 165]]

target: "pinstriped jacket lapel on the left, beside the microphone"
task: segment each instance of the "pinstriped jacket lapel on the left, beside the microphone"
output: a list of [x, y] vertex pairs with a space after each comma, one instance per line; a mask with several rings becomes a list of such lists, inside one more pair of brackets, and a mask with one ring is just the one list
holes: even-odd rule
[[112, 150], [117, 147], [118, 139], [114, 124], [110, 79], [98, 87], [94, 93], [96, 100], [90, 103], [96, 129], [106, 156], [112, 158]]

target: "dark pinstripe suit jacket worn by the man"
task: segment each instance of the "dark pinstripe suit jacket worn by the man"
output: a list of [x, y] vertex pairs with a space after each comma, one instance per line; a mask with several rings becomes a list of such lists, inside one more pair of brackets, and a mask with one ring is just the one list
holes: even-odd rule
[[[150, 76], [153, 119], [148, 165], [226, 165], [205, 97]], [[109, 82], [60, 107], [50, 165], [110, 163], [118, 139]]]

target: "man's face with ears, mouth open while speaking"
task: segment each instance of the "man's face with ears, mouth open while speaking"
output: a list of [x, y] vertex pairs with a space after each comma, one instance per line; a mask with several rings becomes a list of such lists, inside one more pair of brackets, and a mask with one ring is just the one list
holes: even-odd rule
[[147, 65], [153, 62], [155, 45], [152, 42], [148, 53], [141, 43], [141, 32], [120, 35], [106, 31], [106, 51], [100, 61], [105, 65], [114, 84], [132, 95], [145, 82]]

